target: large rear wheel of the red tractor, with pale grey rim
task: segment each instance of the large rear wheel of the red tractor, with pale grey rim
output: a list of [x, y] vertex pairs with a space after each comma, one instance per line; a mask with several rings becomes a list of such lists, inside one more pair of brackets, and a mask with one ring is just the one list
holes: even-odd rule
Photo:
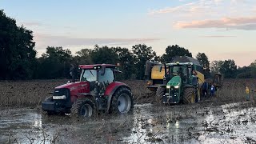
[[134, 107], [131, 92], [126, 87], [118, 89], [111, 99], [110, 113], [128, 113]]

